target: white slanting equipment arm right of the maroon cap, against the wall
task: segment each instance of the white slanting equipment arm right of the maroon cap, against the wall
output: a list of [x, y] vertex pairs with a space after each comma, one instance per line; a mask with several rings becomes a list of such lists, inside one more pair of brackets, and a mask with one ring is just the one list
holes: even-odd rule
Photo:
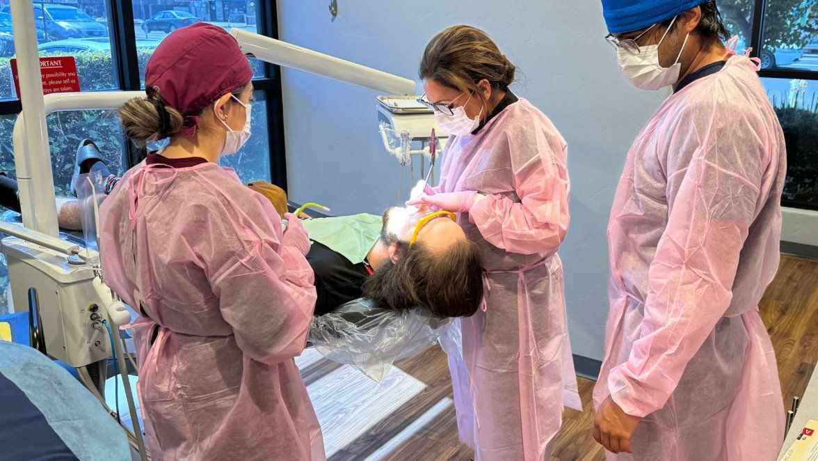
[[397, 95], [415, 93], [415, 82], [410, 79], [387, 74], [381, 70], [344, 61], [335, 56], [314, 52], [307, 48], [246, 30], [231, 29], [230, 33], [239, 42], [241, 49], [265, 62], [302, 70], [309, 74], [371, 89], [379, 93]]

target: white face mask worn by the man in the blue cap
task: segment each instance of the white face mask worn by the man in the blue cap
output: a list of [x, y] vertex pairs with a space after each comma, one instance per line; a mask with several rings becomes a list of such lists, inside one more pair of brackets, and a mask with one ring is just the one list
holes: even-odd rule
[[681, 73], [681, 63], [679, 58], [681, 52], [685, 49], [687, 38], [690, 34], [685, 36], [685, 42], [681, 44], [679, 56], [676, 56], [676, 62], [670, 67], [662, 67], [659, 64], [659, 45], [662, 44], [664, 38], [667, 37], [667, 32], [672, 28], [673, 22], [676, 21], [674, 17], [670, 26], [665, 30], [662, 39], [655, 45], [648, 45], [646, 47], [639, 47], [639, 54], [632, 54], [624, 48], [619, 48], [617, 56], [619, 59], [619, 69], [622, 70], [622, 75], [633, 84], [636, 88], [646, 90], [658, 90], [675, 84], [679, 81]]

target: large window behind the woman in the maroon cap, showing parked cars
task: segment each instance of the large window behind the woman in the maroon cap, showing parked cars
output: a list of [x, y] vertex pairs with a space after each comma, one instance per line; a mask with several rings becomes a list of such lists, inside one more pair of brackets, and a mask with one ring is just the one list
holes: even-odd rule
[[[9, 2], [0, 1], [0, 172], [14, 177], [11, 133], [20, 112], [9, 61], [15, 55]], [[138, 90], [143, 87], [151, 52], [171, 31], [205, 20], [276, 37], [275, 2], [256, 0], [37, 0], [35, 32], [41, 56], [74, 56], [83, 91]], [[135, 45], [135, 46], [134, 46]], [[222, 165], [240, 179], [271, 180], [286, 187], [281, 89], [274, 66], [251, 60], [254, 68], [252, 126], [247, 145]], [[126, 142], [114, 111], [59, 112], [47, 117], [54, 185], [70, 193], [74, 154], [84, 138], [93, 139], [112, 172], [123, 173], [137, 153]], [[0, 219], [20, 215], [0, 207]], [[0, 236], [2, 237], [2, 236]], [[7, 310], [7, 267], [0, 255], [0, 314]]]

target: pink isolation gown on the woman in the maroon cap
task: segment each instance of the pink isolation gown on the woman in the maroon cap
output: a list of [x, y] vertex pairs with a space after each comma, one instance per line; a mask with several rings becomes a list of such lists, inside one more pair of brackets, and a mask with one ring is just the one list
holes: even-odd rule
[[137, 165], [101, 207], [106, 282], [141, 314], [153, 459], [325, 459], [293, 358], [315, 288], [297, 220], [213, 163]]

